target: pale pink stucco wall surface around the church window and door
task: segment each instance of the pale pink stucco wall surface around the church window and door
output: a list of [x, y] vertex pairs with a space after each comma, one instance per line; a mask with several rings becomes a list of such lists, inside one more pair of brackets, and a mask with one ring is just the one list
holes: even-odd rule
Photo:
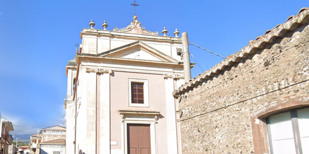
[[[149, 107], [129, 107], [128, 79], [147, 79], [149, 88]], [[119, 110], [159, 111], [156, 124], [157, 153], [167, 153], [166, 99], [163, 75], [113, 71], [110, 76], [110, 130], [111, 149], [121, 149], [121, 116]]]

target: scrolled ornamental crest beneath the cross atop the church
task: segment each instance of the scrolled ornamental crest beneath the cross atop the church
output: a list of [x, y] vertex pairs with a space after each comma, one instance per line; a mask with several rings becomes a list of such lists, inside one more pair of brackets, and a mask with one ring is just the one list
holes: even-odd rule
[[[134, 16], [135, 17], [135, 16]], [[134, 29], [134, 28], [138, 28], [140, 30], [142, 30], [143, 32], [145, 32], [148, 35], [158, 35], [158, 32], [152, 32], [150, 30], [147, 30], [145, 27], [142, 27], [141, 22], [137, 21], [137, 17], [133, 18], [133, 21], [125, 28], [120, 28], [118, 29], [117, 27], [114, 28], [113, 31], [117, 31], [117, 32], [129, 32], [130, 30]]]

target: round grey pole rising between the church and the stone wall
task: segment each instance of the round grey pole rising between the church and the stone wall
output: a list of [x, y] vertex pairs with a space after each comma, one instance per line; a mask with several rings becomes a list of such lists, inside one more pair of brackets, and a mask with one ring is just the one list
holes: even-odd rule
[[191, 68], [189, 59], [189, 46], [188, 46], [188, 34], [187, 32], [181, 33], [181, 44], [182, 44], [182, 60], [184, 70], [184, 82], [187, 83], [191, 79]]

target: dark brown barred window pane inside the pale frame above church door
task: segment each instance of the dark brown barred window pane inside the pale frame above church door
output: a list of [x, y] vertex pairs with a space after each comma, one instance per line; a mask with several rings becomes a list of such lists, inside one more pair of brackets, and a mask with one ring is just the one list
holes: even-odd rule
[[144, 104], [144, 83], [131, 82], [131, 103]]

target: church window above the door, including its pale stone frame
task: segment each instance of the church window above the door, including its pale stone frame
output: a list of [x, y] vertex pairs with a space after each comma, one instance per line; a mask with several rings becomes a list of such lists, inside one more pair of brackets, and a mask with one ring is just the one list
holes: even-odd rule
[[129, 106], [149, 107], [148, 81], [145, 79], [129, 79]]

